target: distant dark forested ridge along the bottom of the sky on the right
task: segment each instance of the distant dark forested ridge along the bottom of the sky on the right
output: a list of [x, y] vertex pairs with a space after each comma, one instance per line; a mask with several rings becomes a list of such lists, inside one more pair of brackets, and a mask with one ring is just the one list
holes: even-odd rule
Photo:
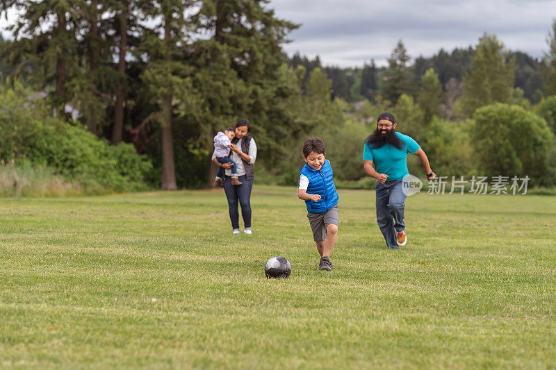
[[[486, 36], [486, 35], [485, 35]], [[550, 46], [552, 48], [553, 46]], [[328, 78], [332, 80], [334, 97], [348, 102], [377, 98], [397, 101], [402, 93], [415, 95], [421, 86], [421, 78], [428, 69], [433, 68], [439, 76], [444, 92], [461, 93], [461, 82], [469, 73], [473, 47], [454, 49], [451, 53], [441, 49], [430, 58], [420, 56], [411, 62], [402, 40], [391, 53], [387, 67], [377, 67], [374, 60], [361, 68], [325, 67]], [[523, 90], [524, 96], [532, 103], [538, 103], [542, 96], [554, 94], [553, 77], [554, 51], [548, 51], [540, 60], [521, 51], [508, 51], [505, 61], [514, 66], [514, 87]], [[321, 67], [320, 59], [310, 60], [296, 53], [290, 60], [293, 66], [303, 65], [307, 71]]]

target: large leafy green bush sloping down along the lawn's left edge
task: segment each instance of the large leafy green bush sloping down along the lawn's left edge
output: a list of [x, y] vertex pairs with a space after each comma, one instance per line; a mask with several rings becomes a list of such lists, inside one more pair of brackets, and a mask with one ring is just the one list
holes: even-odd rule
[[[83, 128], [51, 117], [42, 96], [17, 81], [13, 87], [0, 85], [0, 104], [3, 163], [14, 160], [26, 163], [22, 168], [31, 178], [40, 178], [42, 169], [54, 171], [53, 175], [61, 176], [60, 181], [81, 183], [88, 188], [87, 192], [146, 187], [145, 177], [152, 171], [152, 163], [146, 156], [138, 155], [133, 145], [111, 146]], [[36, 173], [31, 165], [37, 167]], [[17, 171], [11, 173], [19, 174]]]

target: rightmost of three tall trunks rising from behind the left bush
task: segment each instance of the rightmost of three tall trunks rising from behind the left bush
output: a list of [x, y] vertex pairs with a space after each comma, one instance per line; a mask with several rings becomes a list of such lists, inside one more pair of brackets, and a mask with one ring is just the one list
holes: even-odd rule
[[124, 9], [120, 14], [120, 60], [117, 63], [118, 82], [116, 87], [116, 106], [114, 108], [114, 127], [112, 143], [122, 141], [124, 130], [124, 85], [126, 83], [126, 51], [127, 51], [127, 12], [128, 3], [123, 1]]

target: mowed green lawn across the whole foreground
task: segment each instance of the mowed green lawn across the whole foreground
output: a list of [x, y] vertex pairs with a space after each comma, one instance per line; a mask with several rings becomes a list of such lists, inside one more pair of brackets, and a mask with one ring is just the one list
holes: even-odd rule
[[0, 367], [556, 367], [556, 197], [339, 193], [330, 273], [293, 187], [0, 199]]

